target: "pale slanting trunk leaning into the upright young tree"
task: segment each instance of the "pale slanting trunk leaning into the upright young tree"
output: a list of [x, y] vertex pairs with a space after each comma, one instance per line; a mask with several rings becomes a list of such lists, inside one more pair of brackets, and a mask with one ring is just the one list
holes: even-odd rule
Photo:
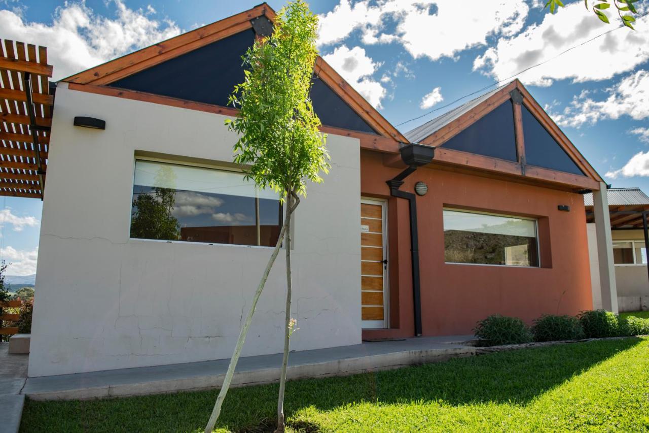
[[271, 272], [271, 268], [273, 267], [273, 263], [275, 263], [277, 254], [280, 252], [280, 247], [282, 246], [284, 233], [288, 231], [287, 227], [289, 224], [289, 220], [290, 218], [287, 217], [286, 221], [284, 221], [284, 225], [282, 226], [282, 231], [280, 231], [279, 238], [277, 239], [277, 243], [275, 244], [275, 249], [273, 250], [273, 254], [271, 254], [271, 258], [269, 259], [268, 264], [266, 265], [266, 269], [263, 271], [262, 280], [259, 282], [259, 285], [257, 286], [257, 291], [254, 293], [254, 297], [252, 298], [252, 305], [250, 307], [250, 310], [248, 311], [248, 315], [245, 318], [245, 322], [243, 322], [243, 327], [241, 328], [241, 332], [239, 332], [239, 339], [237, 340], [237, 345], [234, 348], [234, 353], [232, 354], [232, 358], [230, 359], [230, 365], [228, 366], [228, 371], [225, 373], [225, 379], [223, 379], [223, 386], [221, 386], [221, 390], [219, 391], [219, 396], [216, 398], [216, 402], [214, 403], [214, 409], [212, 410], [212, 415], [210, 415], [210, 421], [208, 421], [207, 426], [205, 427], [205, 433], [212, 433], [212, 430], [214, 430], [214, 425], [216, 424], [216, 420], [219, 419], [219, 414], [221, 413], [221, 406], [223, 406], [223, 400], [225, 399], [225, 395], [228, 393], [228, 389], [230, 388], [230, 382], [232, 382], [234, 369], [236, 368], [237, 362], [239, 361], [239, 355], [241, 355], [243, 342], [245, 341], [245, 337], [248, 334], [248, 328], [250, 328], [250, 324], [252, 322], [252, 315], [254, 314], [254, 309], [257, 306], [257, 301], [259, 300], [259, 296], [262, 295], [263, 286], [266, 284], [266, 280], [268, 279], [268, 274]]

